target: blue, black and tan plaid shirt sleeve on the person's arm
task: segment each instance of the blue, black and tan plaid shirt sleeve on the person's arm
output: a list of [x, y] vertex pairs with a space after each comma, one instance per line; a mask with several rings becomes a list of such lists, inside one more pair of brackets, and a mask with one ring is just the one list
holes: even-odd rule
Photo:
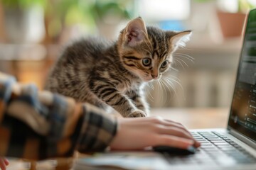
[[26, 159], [70, 157], [104, 151], [117, 121], [73, 98], [38, 91], [0, 72], [0, 156]]

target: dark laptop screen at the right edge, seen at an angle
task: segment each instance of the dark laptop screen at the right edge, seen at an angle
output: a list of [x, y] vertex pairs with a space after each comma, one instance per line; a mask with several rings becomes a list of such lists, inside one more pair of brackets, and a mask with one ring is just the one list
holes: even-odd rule
[[228, 128], [256, 142], [256, 9], [247, 16]]

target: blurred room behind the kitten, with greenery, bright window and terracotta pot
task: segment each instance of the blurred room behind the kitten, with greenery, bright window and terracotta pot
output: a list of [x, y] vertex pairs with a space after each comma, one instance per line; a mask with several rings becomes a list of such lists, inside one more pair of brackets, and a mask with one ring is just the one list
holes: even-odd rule
[[1, 0], [0, 71], [23, 83], [44, 82], [63, 45], [82, 36], [115, 40], [131, 18], [164, 30], [193, 30], [175, 53], [173, 79], [153, 83], [151, 107], [226, 107], [242, 45], [242, 26], [255, 0]]

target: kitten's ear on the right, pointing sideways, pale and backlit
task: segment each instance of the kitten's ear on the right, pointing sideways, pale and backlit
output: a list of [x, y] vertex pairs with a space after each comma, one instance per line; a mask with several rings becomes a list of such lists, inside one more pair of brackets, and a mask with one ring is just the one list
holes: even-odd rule
[[174, 47], [174, 49], [176, 49], [177, 47], [185, 47], [186, 42], [188, 42], [191, 35], [192, 35], [191, 30], [185, 30], [185, 31], [175, 33], [174, 35], [171, 36], [171, 40], [170, 40], [172, 47]]

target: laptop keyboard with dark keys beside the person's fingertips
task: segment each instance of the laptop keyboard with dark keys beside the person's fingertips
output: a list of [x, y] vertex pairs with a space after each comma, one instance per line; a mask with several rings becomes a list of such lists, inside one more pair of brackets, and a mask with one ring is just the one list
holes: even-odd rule
[[256, 158], [218, 132], [191, 132], [201, 142], [196, 154], [176, 156], [164, 152], [170, 164], [256, 164]]

